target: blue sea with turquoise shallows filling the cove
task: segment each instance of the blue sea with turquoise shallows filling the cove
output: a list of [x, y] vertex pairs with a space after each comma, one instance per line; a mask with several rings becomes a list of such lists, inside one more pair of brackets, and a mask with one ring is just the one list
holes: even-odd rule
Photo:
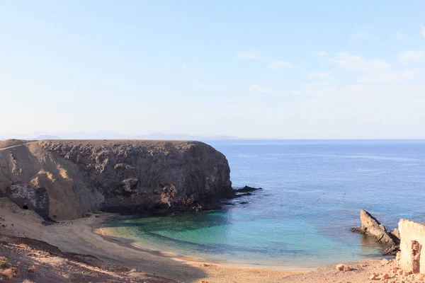
[[[380, 258], [349, 229], [360, 209], [387, 228], [424, 222], [425, 141], [209, 141], [234, 187], [263, 187], [220, 212], [122, 216], [107, 229], [138, 246], [206, 260], [314, 267]], [[249, 202], [240, 204], [239, 202]]]

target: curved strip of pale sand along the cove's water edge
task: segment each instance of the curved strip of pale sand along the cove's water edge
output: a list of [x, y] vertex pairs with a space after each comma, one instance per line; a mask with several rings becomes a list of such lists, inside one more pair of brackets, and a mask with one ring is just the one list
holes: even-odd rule
[[[96, 233], [96, 229], [113, 214], [101, 214], [89, 218], [65, 221], [47, 226], [44, 239], [61, 250], [94, 255], [104, 262], [133, 268], [137, 272], [159, 276], [177, 282], [242, 283], [242, 282], [367, 282], [370, 275], [390, 274], [397, 266], [391, 260], [382, 265], [380, 260], [365, 259], [342, 262], [349, 271], [336, 270], [335, 265], [319, 266], [316, 270], [276, 269], [276, 266], [246, 265], [237, 263], [208, 262], [179, 257], [172, 254], [152, 253], [117, 239]], [[116, 214], [115, 214], [116, 215]], [[274, 268], [273, 268], [274, 267]], [[302, 267], [301, 267], [302, 268]], [[398, 282], [398, 281], [396, 281]]]

